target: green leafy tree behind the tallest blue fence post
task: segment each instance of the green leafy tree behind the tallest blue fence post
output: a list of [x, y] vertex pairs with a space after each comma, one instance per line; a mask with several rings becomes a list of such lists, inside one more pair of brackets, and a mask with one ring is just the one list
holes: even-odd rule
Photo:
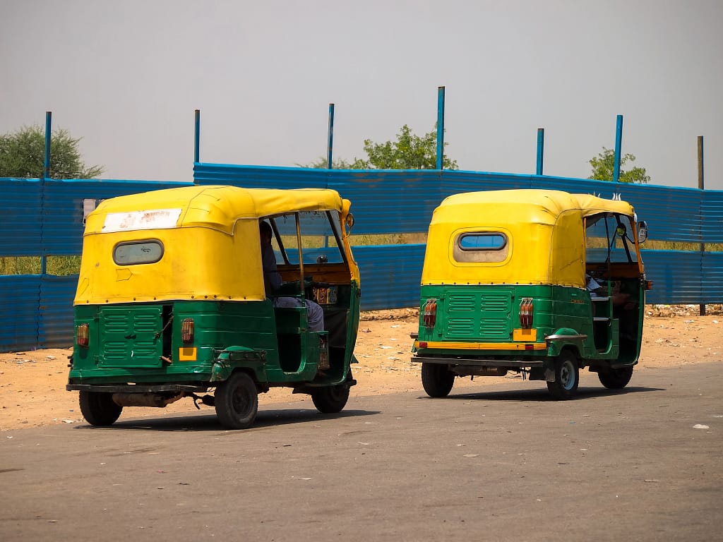
[[[445, 147], [447, 147], [445, 143]], [[406, 124], [401, 127], [396, 141], [375, 143], [364, 139], [366, 160], [357, 158], [354, 169], [435, 169], [437, 167], [437, 129], [417, 136]], [[458, 169], [457, 161], [444, 156], [442, 167]]]

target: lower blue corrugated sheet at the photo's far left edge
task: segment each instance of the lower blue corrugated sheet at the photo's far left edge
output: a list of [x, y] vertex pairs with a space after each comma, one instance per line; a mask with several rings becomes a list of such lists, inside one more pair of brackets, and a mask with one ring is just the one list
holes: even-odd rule
[[40, 275], [0, 275], [0, 352], [38, 345]]

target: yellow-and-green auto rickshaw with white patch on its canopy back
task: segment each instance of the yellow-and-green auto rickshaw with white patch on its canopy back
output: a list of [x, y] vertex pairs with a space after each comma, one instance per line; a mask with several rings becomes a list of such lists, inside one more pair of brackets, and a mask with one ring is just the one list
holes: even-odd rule
[[[235, 186], [101, 202], [85, 225], [67, 384], [85, 419], [108, 426], [124, 407], [191, 397], [244, 429], [271, 387], [342, 410], [359, 327], [349, 207], [328, 189]], [[283, 279], [270, 296], [260, 221]], [[309, 329], [306, 300], [322, 307], [323, 330]]]

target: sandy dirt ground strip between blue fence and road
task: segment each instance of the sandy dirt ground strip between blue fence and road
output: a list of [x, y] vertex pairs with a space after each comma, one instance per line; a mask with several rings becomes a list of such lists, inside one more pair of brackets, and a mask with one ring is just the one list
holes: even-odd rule
[[[638, 371], [648, 368], [675, 367], [693, 363], [723, 361], [723, 306], [709, 305], [704, 317], [698, 305], [646, 307], [641, 358]], [[361, 314], [359, 336], [354, 353], [359, 364], [353, 366], [358, 384], [351, 388], [351, 398], [422, 390], [421, 366], [410, 361], [411, 339], [416, 332], [419, 312], [416, 309], [372, 311]], [[0, 353], [0, 431], [57, 423], [84, 423], [78, 407], [77, 392], [65, 390], [68, 356], [72, 349], [48, 349]], [[521, 387], [544, 385], [521, 382], [521, 376], [476, 377], [456, 379], [461, 387], [494, 386], [519, 380]], [[633, 383], [636, 376], [633, 374]], [[595, 374], [581, 372], [581, 385], [600, 385]], [[423, 393], [423, 392], [422, 392]], [[307, 402], [307, 395], [292, 395], [286, 388], [273, 389], [259, 397], [259, 408], [269, 403]], [[200, 405], [213, 412], [212, 407]], [[123, 419], [159, 418], [171, 413], [194, 412], [192, 400], [182, 399], [166, 408], [125, 408]]]

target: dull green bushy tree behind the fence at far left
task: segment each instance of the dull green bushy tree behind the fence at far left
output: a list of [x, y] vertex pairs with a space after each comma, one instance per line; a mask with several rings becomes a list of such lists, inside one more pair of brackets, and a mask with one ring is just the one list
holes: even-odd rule
[[[78, 142], [65, 129], [51, 134], [50, 175], [53, 178], [98, 178], [105, 168], [83, 163]], [[0, 135], [0, 177], [40, 178], [45, 167], [45, 128], [23, 126]]]

